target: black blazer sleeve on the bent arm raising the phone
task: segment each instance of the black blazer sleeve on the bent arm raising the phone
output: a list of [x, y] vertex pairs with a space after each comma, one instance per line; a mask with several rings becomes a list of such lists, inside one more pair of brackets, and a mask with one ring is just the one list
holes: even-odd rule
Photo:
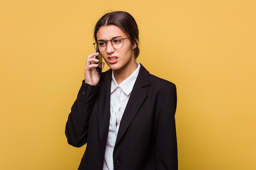
[[66, 123], [68, 144], [81, 147], [87, 143], [89, 119], [98, 91], [99, 86], [91, 86], [83, 81]]

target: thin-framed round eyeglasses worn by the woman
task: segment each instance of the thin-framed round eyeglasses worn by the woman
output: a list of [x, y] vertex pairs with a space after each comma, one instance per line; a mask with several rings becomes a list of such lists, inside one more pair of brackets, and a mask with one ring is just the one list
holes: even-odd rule
[[[130, 37], [127, 37], [127, 38], [130, 38]], [[112, 38], [111, 40], [99, 40], [97, 42], [94, 42], [93, 45], [95, 47], [95, 49], [97, 50], [97, 47], [98, 47], [98, 50], [99, 52], [103, 52], [106, 50], [107, 48], [107, 42], [110, 41], [111, 42], [111, 45], [114, 49], [121, 49], [124, 45], [124, 40], [127, 39], [127, 38], [121, 38], [120, 36], [118, 37], [114, 37]]]

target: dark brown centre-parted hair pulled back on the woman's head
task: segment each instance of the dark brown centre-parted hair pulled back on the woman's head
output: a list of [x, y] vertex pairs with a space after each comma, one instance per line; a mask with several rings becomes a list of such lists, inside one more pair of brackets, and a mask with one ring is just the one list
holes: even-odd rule
[[134, 49], [135, 59], [139, 56], [139, 30], [135, 19], [127, 12], [124, 11], [114, 11], [110, 13], [106, 13], [103, 15], [94, 29], [94, 39], [97, 42], [97, 32], [101, 28], [101, 26], [115, 25], [119, 27], [127, 36], [130, 37], [130, 41], [132, 44], [136, 44], [136, 48]]

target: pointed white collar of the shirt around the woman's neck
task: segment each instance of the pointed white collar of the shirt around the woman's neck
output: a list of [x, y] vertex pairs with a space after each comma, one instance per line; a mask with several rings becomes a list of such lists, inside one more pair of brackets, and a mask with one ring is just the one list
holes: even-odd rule
[[123, 82], [121, 82], [119, 85], [117, 84], [114, 73], [112, 71], [112, 80], [111, 80], [110, 93], [115, 91], [115, 89], [117, 87], [120, 87], [126, 95], [129, 95], [132, 92], [132, 88], [133, 88], [133, 86], [136, 82], [136, 79], [137, 79], [138, 74], [139, 74], [139, 69], [140, 69], [140, 64], [137, 63], [137, 62], [136, 62], [136, 64], [137, 64], [136, 70], [129, 77], [127, 77]]

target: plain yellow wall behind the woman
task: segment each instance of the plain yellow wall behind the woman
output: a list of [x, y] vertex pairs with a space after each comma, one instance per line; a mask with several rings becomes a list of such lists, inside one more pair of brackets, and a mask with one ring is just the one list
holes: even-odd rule
[[137, 20], [138, 61], [177, 85], [179, 170], [256, 169], [255, 0], [1, 0], [0, 170], [76, 170], [64, 134], [93, 26]]

